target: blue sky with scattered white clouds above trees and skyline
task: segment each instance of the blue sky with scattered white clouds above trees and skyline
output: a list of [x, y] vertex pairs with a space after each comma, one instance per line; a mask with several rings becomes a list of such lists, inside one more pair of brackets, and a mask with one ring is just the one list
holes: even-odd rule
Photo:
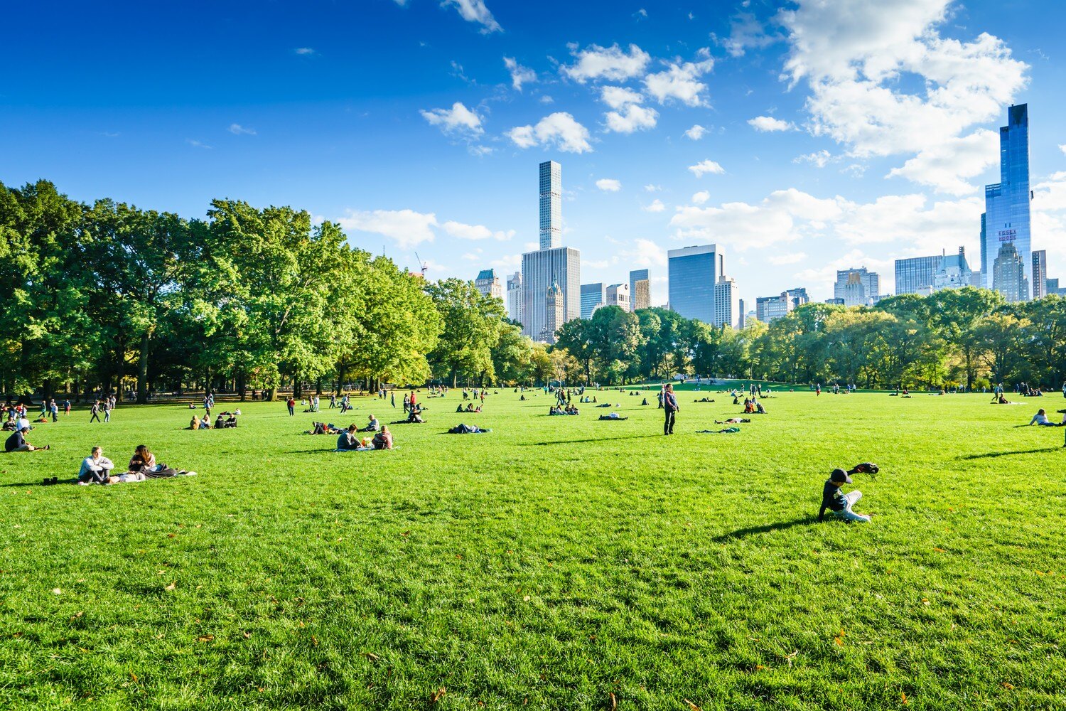
[[[201, 216], [288, 204], [431, 278], [501, 276], [563, 166], [583, 281], [714, 242], [743, 297], [967, 247], [1029, 102], [1033, 248], [1066, 278], [1063, 3], [27, 3], [0, 180]], [[15, 32], [11, 32], [11, 29]], [[21, 28], [21, 29], [19, 29]]]

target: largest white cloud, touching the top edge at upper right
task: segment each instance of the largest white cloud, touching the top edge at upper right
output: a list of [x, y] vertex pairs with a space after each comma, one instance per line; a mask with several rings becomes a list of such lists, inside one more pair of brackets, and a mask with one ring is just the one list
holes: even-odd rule
[[[813, 134], [857, 158], [917, 155], [895, 175], [928, 179], [920, 168], [931, 165], [940, 192], [962, 194], [970, 190], [965, 178], [975, 175], [979, 141], [964, 132], [1001, 116], [1028, 84], [1029, 66], [987, 33], [971, 42], [941, 37], [952, 1], [800, 0], [778, 21], [791, 46], [782, 77], [810, 84]], [[948, 145], [966, 155], [947, 157]]]

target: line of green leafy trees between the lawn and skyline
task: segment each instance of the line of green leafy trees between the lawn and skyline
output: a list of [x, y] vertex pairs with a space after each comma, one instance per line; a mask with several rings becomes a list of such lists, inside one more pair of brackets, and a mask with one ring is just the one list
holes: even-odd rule
[[0, 386], [7, 394], [346, 383], [620, 385], [676, 374], [965, 386], [1059, 387], [1066, 301], [1004, 303], [982, 289], [875, 307], [807, 304], [742, 329], [662, 308], [570, 321], [548, 346], [521, 335], [472, 281], [426, 282], [348, 244], [307, 211], [213, 200], [204, 219], [45, 180], [0, 183]]

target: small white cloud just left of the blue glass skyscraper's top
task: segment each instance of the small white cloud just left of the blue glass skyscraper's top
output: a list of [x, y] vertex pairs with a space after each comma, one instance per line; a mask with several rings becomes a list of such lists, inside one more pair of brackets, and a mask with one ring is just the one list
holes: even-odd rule
[[949, 139], [931, 146], [911, 158], [902, 167], [892, 168], [886, 176], [901, 176], [912, 182], [928, 185], [938, 193], [969, 195], [978, 187], [967, 182], [999, 162], [999, 134], [979, 129], [969, 135]]

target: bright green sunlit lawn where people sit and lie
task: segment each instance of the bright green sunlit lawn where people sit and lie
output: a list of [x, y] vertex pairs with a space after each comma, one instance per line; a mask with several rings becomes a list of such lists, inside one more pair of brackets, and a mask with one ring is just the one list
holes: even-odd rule
[[[282, 403], [38, 425], [0, 460], [0, 708], [1066, 708], [1064, 430], [1015, 427], [1062, 398], [782, 392], [706, 435], [740, 407], [683, 389], [667, 438], [617, 391], [422, 397], [392, 452]], [[96, 443], [199, 475], [41, 485]], [[865, 460], [873, 522], [817, 523]]]

